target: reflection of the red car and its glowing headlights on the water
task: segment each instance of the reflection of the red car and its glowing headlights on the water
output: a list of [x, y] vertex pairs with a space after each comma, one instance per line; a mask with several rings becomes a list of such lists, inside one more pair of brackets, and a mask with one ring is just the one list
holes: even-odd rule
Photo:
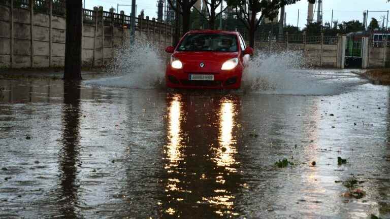
[[168, 97], [163, 217], [237, 215], [237, 99]]

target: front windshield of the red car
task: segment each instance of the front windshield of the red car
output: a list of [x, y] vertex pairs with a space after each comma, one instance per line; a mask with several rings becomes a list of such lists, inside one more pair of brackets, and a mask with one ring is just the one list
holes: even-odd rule
[[234, 34], [190, 33], [177, 51], [237, 52], [237, 38]]

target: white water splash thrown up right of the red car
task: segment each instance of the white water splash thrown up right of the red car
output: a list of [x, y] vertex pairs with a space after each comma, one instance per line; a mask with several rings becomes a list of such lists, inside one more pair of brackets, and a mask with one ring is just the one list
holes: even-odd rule
[[[336, 76], [337, 71], [332, 70], [330, 75]], [[246, 92], [287, 95], [340, 93], [345, 84], [334, 83], [332, 79], [339, 77], [323, 74], [324, 72], [305, 66], [301, 51], [259, 54], [250, 60], [245, 69], [242, 89]], [[341, 77], [355, 78], [350, 75]]]

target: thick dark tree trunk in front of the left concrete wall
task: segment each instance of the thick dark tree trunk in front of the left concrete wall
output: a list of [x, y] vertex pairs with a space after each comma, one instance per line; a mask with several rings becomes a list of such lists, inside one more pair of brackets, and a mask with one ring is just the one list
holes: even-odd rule
[[82, 0], [66, 1], [67, 30], [64, 80], [81, 80]]

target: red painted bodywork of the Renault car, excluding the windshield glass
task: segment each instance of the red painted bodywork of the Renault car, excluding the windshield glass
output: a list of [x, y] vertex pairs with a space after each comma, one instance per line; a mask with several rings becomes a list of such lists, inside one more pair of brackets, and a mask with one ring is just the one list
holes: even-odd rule
[[[233, 42], [234, 51], [180, 51], [179, 47], [188, 36], [196, 34], [214, 34], [219, 37], [236, 39]], [[206, 36], [207, 37], [207, 36]], [[222, 40], [221, 40], [222, 41]], [[190, 43], [188, 43], [190, 44]], [[187, 44], [187, 45], [188, 45]], [[237, 48], [236, 48], [237, 47]], [[184, 48], [181, 46], [180, 48]], [[253, 49], [245, 48], [245, 42], [239, 32], [221, 30], [192, 30], [187, 32], [177, 47], [168, 47], [166, 52], [172, 53], [171, 62], [166, 69], [166, 83], [170, 88], [190, 89], [238, 89], [241, 86], [243, 69], [247, 65]], [[222, 70], [224, 62], [238, 58], [238, 64], [233, 69]], [[179, 60], [181, 68], [172, 66], [172, 60]], [[234, 59], [237, 63], [237, 59]], [[180, 65], [179, 65], [180, 66]]]

